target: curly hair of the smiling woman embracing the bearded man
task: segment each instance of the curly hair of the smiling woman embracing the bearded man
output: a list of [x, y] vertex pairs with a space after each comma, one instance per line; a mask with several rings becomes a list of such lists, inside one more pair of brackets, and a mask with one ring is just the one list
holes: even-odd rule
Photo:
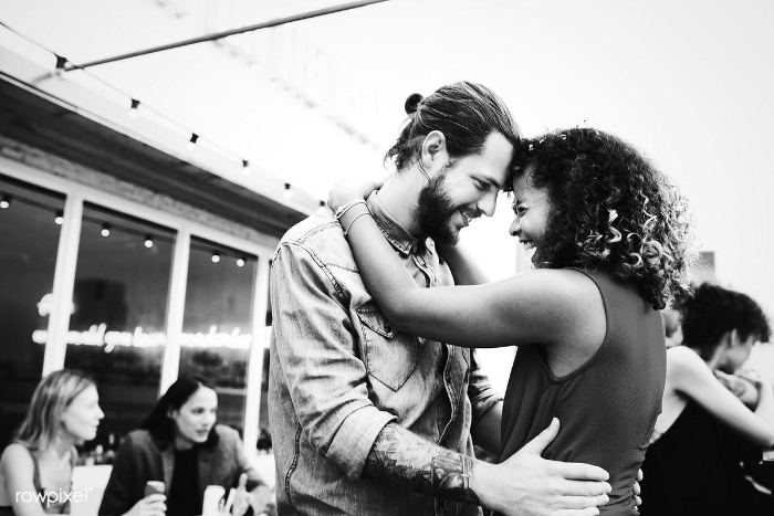
[[608, 270], [656, 309], [690, 292], [688, 202], [631, 145], [592, 128], [559, 130], [517, 146], [514, 176], [530, 166], [531, 185], [550, 198], [537, 266]]

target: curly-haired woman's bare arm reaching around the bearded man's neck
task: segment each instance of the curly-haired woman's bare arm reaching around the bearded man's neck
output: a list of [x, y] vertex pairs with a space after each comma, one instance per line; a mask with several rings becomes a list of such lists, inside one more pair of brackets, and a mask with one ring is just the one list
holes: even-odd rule
[[537, 270], [487, 285], [420, 288], [364, 204], [339, 222], [366, 288], [402, 331], [464, 347], [599, 340], [599, 325], [589, 320], [602, 320], [604, 331], [599, 292], [577, 271]]

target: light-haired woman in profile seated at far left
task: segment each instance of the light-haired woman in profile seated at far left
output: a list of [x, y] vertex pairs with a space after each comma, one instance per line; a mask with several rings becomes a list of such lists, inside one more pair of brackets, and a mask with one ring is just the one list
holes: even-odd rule
[[83, 373], [62, 369], [41, 380], [0, 459], [0, 514], [70, 514], [75, 445], [96, 436], [104, 415]]

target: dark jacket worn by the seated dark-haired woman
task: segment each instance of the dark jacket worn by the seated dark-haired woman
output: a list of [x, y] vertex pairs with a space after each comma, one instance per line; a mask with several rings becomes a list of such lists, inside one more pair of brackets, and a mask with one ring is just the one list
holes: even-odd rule
[[[172, 480], [175, 446], [147, 430], [129, 432], [118, 450], [111, 480], [100, 505], [100, 515], [119, 516], [145, 496], [147, 481], [161, 481], [169, 488]], [[199, 447], [199, 503], [208, 485], [221, 485], [228, 493], [237, 487], [239, 476], [261, 482], [247, 462], [242, 441], [236, 430], [216, 424], [208, 442]]]

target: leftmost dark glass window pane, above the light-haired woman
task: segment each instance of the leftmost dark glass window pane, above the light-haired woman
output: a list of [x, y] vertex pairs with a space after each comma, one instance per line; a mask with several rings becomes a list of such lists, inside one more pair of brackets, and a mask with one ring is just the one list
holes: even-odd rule
[[0, 449], [43, 372], [63, 210], [64, 196], [0, 176]]

